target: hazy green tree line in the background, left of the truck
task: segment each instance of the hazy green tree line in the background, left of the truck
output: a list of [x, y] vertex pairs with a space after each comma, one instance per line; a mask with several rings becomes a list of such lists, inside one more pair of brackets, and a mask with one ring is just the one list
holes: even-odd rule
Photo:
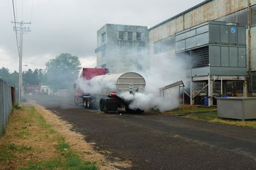
[[[61, 53], [55, 58], [49, 59], [46, 63], [46, 69], [28, 69], [22, 72], [22, 83], [30, 85], [50, 86], [54, 91], [70, 88], [79, 76], [81, 63], [79, 57], [68, 53]], [[9, 84], [18, 87], [19, 73], [2, 67], [0, 76]]]

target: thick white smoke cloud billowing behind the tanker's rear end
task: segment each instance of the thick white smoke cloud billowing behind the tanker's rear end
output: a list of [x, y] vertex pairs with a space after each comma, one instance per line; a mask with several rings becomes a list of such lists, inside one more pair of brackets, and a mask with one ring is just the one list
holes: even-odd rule
[[[148, 56], [147, 56], [148, 57]], [[185, 61], [177, 56], [151, 56], [151, 65], [140, 73], [146, 80], [144, 93], [129, 92], [118, 94], [124, 100], [131, 101], [130, 109], [158, 109], [160, 112], [179, 107], [179, 87], [164, 90], [164, 97], [160, 96], [159, 88], [177, 81], [186, 80]]]

